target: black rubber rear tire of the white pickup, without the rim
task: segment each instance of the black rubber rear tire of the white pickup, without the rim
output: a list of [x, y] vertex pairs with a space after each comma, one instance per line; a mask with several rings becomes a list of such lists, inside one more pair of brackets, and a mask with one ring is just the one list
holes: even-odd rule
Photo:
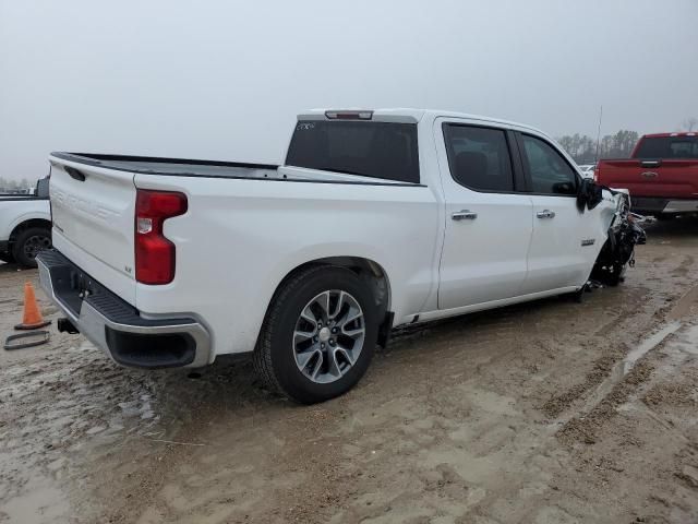
[[[296, 364], [293, 331], [305, 305], [325, 290], [349, 293], [363, 311], [365, 336], [353, 366], [329, 383], [313, 382]], [[269, 305], [254, 350], [255, 371], [266, 388], [301, 404], [314, 404], [339, 396], [361, 379], [376, 345], [378, 319], [371, 291], [350, 270], [311, 266], [286, 282]]]

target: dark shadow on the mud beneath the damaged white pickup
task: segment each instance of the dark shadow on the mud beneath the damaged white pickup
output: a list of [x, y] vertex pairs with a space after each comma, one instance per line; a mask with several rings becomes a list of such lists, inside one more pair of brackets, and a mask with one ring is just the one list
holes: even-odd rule
[[[581, 305], [570, 296], [561, 296], [395, 330], [388, 346], [376, 348], [366, 377], [359, 385], [345, 397], [322, 406], [333, 409], [335, 403], [344, 404], [347, 398], [371, 394], [373, 389], [383, 390], [387, 384], [393, 394], [399, 394], [405, 383], [437, 371], [442, 366], [440, 361], [448, 368], [448, 361], [465, 362], [485, 354], [486, 358], [498, 358], [512, 352], [520, 353], [527, 344], [549, 337], [546, 330], [539, 331], [541, 323], [564, 335], [578, 322], [577, 315], [582, 321], [592, 314], [601, 318], [603, 311], [615, 309], [628, 293], [631, 291], [623, 287], [606, 288], [594, 291], [593, 299]], [[590, 318], [587, 322], [595, 321]], [[151, 378], [156, 381], [154, 396], [160, 401], [158, 410], [165, 426], [167, 420], [215, 419], [226, 413], [244, 416], [248, 412], [305, 408], [264, 390], [254, 373], [251, 355], [220, 356], [205, 368], [156, 371]]]

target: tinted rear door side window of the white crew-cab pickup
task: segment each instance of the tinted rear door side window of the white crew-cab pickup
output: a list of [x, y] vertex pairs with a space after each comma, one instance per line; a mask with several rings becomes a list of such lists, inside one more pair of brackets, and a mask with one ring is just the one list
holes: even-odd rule
[[514, 191], [512, 157], [504, 130], [445, 123], [444, 139], [454, 180], [474, 191]]

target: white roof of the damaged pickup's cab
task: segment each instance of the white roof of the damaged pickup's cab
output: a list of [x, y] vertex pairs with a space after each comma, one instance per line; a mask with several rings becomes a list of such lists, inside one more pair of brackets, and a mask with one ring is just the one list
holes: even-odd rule
[[424, 117], [430, 118], [438, 118], [438, 117], [447, 117], [447, 118], [462, 118], [468, 120], [481, 120], [483, 122], [498, 123], [510, 127], [517, 127], [522, 129], [529, 129], [531, 131], [535, 131], [537, 133], [541, 133], [546, 135], [540, 129], [533, 128], [531, 126], [527, 126], [525, 123], [513, 122], [510, 120], [504, 120], [501, 118], [492, 118], [484, 117], [482, 115], [471, 115], [467, 112], [459, 111], [450, 111], [446, 109], [416, 109], [409, 107], [395, 107], [395, 108], [378, 108], [378, 109], [365, 109], [365, 108], [316, 108], [309, 109], [306, 111], [298, 115], [299, 120], [326, 120], [327, 114], [359, 114], [359, 112], [371, 112], [371, 120], [378, 122], [405, 122], [405, 123], [417, 123]]

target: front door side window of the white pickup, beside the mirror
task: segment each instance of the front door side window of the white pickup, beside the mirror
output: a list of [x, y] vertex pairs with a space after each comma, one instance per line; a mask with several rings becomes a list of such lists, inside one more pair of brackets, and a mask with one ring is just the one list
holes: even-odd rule
[[520, 136], [532, 191], [540, 194], [577, 194], [577, 174], [563, 155], [541, 139], [530, 134]]

